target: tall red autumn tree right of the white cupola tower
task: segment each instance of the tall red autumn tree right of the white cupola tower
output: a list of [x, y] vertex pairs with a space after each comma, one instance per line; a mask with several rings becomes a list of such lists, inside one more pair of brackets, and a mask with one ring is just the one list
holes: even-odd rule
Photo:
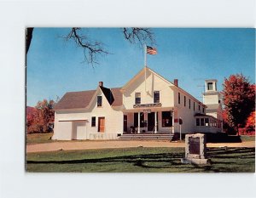
[[227, 122], [239, 134], [239, 127], [245, 127], [247, 117], [255, 109], [255, 85], [242, 74], [224, 78], [223, 101]]

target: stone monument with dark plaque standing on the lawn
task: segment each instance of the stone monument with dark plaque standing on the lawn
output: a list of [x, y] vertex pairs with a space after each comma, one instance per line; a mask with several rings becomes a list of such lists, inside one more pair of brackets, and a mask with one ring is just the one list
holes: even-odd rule
[[208, 164], [206, 136], [202, 133], [186, 134], [185, 158], [182, 163]]

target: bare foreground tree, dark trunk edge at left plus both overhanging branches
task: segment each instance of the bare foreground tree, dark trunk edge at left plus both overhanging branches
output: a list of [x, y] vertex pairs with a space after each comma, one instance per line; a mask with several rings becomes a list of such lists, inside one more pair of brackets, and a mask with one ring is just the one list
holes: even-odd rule
[[[26, 29], [26, 54], [30, 48], [30, 43], [32, 42], [32, 32], [33, 28]], [[103, 47], [102, 42], [92, 41], [89, 37], [83, 34], [82, 28], [73, 27], [69, 31], [64, 39], [66, 41], [73, 41], [79, 48], [83, 49], [84, 60], [90, 65], [98, 64], [97, 56], [109, 54], [107, 49]], [[132, 44], [138, 44], [140, 47], [143, 47], [143, 43], [154, 44], [154, 34], [149, 28], [140, 28], [140, 27], [124, 27], [122, 32], [125, 36], [125, 39]]]

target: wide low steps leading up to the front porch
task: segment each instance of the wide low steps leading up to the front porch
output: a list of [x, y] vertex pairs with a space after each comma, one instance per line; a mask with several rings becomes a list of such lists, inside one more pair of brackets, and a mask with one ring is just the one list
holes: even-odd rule
[[119, 140], [172, 140], [173, 134], [168, 133], [137, 133], [137, 134], [123, 134], [119, 137]]

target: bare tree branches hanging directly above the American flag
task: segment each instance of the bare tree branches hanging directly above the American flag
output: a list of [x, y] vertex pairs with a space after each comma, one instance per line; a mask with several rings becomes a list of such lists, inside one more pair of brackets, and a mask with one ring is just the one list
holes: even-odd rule
[[143, 27], [124, 27], [123, 33], [125, 39], [132, 44], [139, 44], [143, 47], [144, 43], [155, 44], [154, 33], [149, 28]]

